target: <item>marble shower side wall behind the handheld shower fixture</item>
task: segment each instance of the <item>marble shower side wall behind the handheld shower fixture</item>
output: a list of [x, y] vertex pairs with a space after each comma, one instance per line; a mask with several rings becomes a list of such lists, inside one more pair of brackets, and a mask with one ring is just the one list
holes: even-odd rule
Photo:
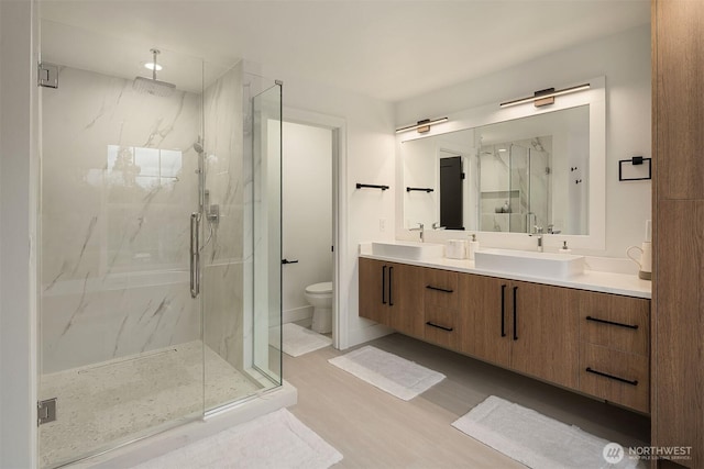
[[205, 342], [238, 369], [243, 368], [244, 265], [252, 260], [244, 250], [252, 171], [243, 165], [242, 82], [240, 64], [210, 85], [204, 98], [206, 188], [209, 202], [220, 208], [220, 221], [205, 225], [206, 237], [212, 226], [204, 261]]

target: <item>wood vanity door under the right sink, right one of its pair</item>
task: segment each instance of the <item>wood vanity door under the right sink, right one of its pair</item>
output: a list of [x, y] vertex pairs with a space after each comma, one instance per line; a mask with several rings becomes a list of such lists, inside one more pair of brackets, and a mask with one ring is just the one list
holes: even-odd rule
[[510, 368], [568, 388], [578, 387], [579, 315], [571, 290], [510, 282]]

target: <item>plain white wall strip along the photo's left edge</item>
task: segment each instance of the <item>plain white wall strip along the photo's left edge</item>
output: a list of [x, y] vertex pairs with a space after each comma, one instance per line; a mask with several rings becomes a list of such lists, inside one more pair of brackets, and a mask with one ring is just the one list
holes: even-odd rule
[[[34, 4], [0, 2], [0, 467], [36, 466]], [[30, 245], [31, 243], [31, 245]]]

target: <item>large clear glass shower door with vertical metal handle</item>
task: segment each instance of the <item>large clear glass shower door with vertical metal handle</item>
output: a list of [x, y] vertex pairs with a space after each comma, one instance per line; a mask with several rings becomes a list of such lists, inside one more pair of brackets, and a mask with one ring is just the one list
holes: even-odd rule
[[202, 62], [162, 51], [157, 82], [142, 66], [150, 47], [138, 46], [127, 47], [143, 52], [130, 68], [91, 70], [80, 47], [53, 47], [66, 36], [127, 47], [42, 22], [58, 88], [41, 90], [41, 467], [204, 413], [201, 298], [189, 275]]

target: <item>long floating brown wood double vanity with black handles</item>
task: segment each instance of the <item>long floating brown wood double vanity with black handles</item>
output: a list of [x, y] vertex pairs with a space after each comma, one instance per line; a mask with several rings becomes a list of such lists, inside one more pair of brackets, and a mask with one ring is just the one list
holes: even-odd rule
[[463, 270], [360, 257], [360, 316], [649, 413], [648, 298]]

